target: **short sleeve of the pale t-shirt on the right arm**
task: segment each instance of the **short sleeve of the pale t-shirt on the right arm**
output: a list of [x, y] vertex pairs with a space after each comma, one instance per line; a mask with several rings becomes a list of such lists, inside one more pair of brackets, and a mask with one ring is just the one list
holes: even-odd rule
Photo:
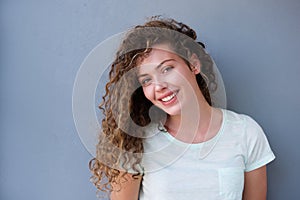
[[262, 128], [251, 117], [245, 117], [245, 171], [249, 172], [275, 159]]

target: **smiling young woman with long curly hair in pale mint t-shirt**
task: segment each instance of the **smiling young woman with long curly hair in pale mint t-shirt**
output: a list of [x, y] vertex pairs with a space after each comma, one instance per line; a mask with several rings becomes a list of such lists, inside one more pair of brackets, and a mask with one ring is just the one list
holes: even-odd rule
[[112, 200], [263, 200], [275, 157], [250, 117], [214, 107], [213, 62], [196, 33], [152, 18], [111, 66], [92, 181]]

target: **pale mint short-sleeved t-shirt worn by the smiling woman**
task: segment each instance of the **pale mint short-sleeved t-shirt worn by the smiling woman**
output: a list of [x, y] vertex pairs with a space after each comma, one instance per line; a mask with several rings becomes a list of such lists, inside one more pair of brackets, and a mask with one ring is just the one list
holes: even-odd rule
[[261, 127], [250, 117], [222, 110], [219, 132], [187, 144], [153, 124], [144, 141], [140, 200], [241, 200], [244, 172], [275, 156]]

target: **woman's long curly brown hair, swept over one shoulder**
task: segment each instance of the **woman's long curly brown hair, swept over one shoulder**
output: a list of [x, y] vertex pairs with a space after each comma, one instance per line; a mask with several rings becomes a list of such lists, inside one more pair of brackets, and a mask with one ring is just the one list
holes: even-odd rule
[[[89, 163], [91, 181], [98, 191], [111, 192], [115, 189], [112, 184], [120, 185], [120, 177], [127, 180], [122, 172], [129, 172], [133, 178], [143, 174], [140, 164], [143, 138], [147, 135], [145, 127], [161, 120], [163, 112], [144, 96], [135, 69], [138, 58], [147, 56], [154, 45], [168, 44], [190, 69], [190, 56], [198, 56], [201, 74], [197, 74], [196, 79], [206, 101], [212, 105], [209, 91], [216, 90], [213, 62], [204, 50], [204, 44], [196, 42], [196, 38], [196, 32], [189, 26], [160, 17], [152, 17], [144, 25], [127, 32], [111, 65], [109, 81], [99, 105], [104, 115], [102, 130], [96, 158]], [[150, 117], [151, 107], [155, 109]]]

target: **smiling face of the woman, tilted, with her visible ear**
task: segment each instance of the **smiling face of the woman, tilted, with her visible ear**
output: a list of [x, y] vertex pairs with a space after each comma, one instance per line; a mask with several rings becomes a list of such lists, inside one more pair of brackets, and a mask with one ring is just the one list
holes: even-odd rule
[[193, 62], [195, 70], [167, 45], [154, 46], [139, 62], [137, 73], [146, 98], [167, 114], [180, 115], [182, 109], [189, 106], [191, 96], [200, 92], [195, 76], [200, 72], [200, 61]]

